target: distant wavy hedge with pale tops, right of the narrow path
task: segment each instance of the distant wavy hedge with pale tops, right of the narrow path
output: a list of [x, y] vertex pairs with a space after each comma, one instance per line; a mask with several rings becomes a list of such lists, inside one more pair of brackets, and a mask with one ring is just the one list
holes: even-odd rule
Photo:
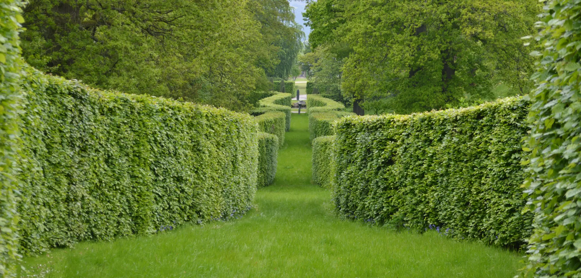
[[320, 95], [309, 95], [307, 98], [307, 112], [309, 113], [309, 137], [311, 140], [319, 136], [335, 134], [333, 123], [339, 118], [354, 115], [343, 111], [345, 106], [332, 99]]

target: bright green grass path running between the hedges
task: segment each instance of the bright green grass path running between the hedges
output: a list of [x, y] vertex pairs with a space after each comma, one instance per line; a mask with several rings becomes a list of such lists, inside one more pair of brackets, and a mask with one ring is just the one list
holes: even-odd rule
[[[521, 254], [435, 232], [395, 233], [340, 220], [311, 185], [306, 114], [293, 114], [274, 185], [241, 219], [182, 226], [25, 258], [28, 277], [505, 277]], [[46, 272], [46, 275], [38, 273]], [[26, 277], [26, 275], [22, 275]]]

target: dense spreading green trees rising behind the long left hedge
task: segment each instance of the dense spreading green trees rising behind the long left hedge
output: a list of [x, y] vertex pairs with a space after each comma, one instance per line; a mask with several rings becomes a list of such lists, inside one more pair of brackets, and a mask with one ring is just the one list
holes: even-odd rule
[[248, 110], [304, 34], [286, 0], [31, 0], [28, 64], [103, 89]]

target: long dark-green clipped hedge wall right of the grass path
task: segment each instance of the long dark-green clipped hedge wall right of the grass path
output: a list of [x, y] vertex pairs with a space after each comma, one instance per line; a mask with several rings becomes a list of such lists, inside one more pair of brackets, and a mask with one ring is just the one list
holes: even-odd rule
[[460, 239], [521, 247], [529, 102], [508, 98], [465, 109], [347, 117], [336, 125], [337, 186], [346, 218], [396, 228], [435, 225]]

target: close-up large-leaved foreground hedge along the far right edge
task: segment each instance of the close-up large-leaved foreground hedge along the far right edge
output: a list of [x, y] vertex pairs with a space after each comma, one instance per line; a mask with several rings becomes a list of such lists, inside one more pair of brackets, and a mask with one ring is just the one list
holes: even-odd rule
[[547, 1], [530, 94], [525, 193], [535, 212], [527, 277], [581, 277], [581, 1]]

